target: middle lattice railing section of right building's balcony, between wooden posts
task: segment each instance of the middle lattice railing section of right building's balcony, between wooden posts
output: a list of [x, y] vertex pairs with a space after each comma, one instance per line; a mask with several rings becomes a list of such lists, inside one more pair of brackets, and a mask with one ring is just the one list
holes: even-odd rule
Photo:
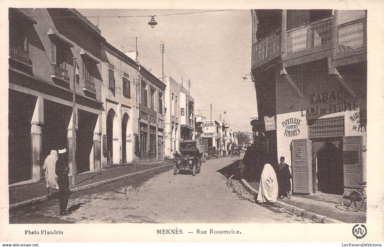
[[332, 43], [333, 17], [306, 23], [286, 31], [287, 53]]

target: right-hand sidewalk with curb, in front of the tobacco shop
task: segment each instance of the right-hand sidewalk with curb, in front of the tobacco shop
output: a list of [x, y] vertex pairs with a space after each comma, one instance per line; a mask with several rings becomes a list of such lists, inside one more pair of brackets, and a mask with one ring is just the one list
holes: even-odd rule
[[[257, 196], [260, 182], [242, 179], [246, 189], [253, 195]], [[327, 202], [316, 200], [316, 194], [311, 196], [296, 196], [291, 199], [278, 199], [276, 205], [284, 207], [297, 215], [313, 219], [322, 223], [365, 223], [366, 211], [349, 212], [345, 211], [341, 202]]]

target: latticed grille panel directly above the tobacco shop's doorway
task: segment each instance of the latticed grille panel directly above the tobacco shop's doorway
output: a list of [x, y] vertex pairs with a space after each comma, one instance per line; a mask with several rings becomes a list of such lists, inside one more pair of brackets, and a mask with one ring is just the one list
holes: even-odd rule
[[344, 116], [323, 118], [308, 126], [309, 138], [344, 136]]

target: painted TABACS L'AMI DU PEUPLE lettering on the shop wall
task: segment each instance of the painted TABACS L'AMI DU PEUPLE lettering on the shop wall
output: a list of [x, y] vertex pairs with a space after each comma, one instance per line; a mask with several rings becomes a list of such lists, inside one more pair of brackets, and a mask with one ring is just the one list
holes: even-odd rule
[[311, 93], [308, 95], [309, 106], [301, 108], [301, 116], [319, 118], [326, 114], [353, 111], [359, 108], [358, 100], [351, 99], [346, 90]]

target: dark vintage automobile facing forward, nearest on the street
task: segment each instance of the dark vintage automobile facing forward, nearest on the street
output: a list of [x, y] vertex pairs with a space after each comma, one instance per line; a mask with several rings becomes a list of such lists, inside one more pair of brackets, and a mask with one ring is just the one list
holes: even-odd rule
[[192, 171], [192, 175], [201, 171], [201, 156], [197, 148], [182, 148], [180, 156], [174, 159], [173, 174], [176, 175], [180, 170]]

